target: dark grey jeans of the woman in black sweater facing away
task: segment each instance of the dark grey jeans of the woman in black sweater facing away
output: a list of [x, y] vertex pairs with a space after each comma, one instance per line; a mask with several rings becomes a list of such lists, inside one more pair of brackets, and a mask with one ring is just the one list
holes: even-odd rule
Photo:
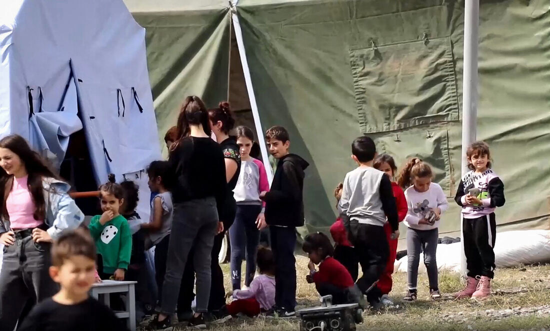
[[162, 313], [172, 315], [178, 302], [185, 263], [191, 247], [195, 254], [197, 312], [208, 311], [210, 297], [210, 255], [218, 228], [215, 198], [174, 204], [174, 219], [168, 244], [166, 275], [162, 286]]

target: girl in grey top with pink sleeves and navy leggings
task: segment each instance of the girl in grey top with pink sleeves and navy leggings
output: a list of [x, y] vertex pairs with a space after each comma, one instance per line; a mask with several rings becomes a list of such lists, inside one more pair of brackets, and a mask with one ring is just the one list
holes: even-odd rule
[[254, 134], [250, 128], [237, 128], [237, 144], [240, 148], [241, 169], [233, 197], [237, 201], [235, 222], [229, 228], [231, 242], [231, 282], [233, 290], [241, 288], [241, 264], [246, 252], [245, 285], [250, 286], [256, 273], [256, 250], [260, 242], [260, 230], [266, 227], [260, 192], [269, 191], [266, 169], [263, 163], [250, 157]]

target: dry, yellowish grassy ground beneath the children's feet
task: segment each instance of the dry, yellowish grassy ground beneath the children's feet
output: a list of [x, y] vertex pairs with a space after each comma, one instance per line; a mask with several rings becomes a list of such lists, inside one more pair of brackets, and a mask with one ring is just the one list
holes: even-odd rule
[[[297, 297], [300, 308], [318, 305], [315, 286], [305, 282], [307, 260], [299, 257]], [[224, 270], [228, 265], [223, 266]], [[229, 274], [225, 270], [225, 274]], [[518, 307], [540, 307], [550, 304], [550, 266], [531, 266], [515, 269], [499, 269], [493, 283], [493, 296], [483, 302], [472, 300], [431, 301], [425, 274], [419, 277], [419, 300], [412, 304], [401, 298], [406, 291], [406, 274], [394, 275], [394, 288], [390, 297], [395, 307], [381, 312], [366, 312], [365, 322], [358, 330], [541, 330], [550, 329], [548, 313], [533, 313], [500, 318], [500, 312]], [[226, 277], [226, 288], [230, 288]], [[439, 289], [450, 294], [461, 288], [458, 274], [440, 273]], [[508, 310], [508, 311], [507, 311]], [[489, 311], [487, 313], [486, 311]], [[497, 316], [497, 317], [495, 317]], [[210, 326], [211, 330], [230, 331], [238, 328], [256, 330], [298, 330], [298, 320], [282, 321], [268, 318], [232, 319], [223, 326]], [[184, 329], [184, 328], [182, 328]], [[176, 328], [179, 330], [179, 328]]]

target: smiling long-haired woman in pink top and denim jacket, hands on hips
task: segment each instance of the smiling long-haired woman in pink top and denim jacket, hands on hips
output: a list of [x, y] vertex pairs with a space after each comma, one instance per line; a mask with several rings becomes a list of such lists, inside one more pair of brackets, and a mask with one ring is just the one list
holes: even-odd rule
[[[29, 300], [57, 293], [48, 273], [51, 243], [84, 214], [38, 154], [18, 135], [0, 140], [0, 326], [13, 330]], [[21, 322], [21, 321], [19, 321]]]

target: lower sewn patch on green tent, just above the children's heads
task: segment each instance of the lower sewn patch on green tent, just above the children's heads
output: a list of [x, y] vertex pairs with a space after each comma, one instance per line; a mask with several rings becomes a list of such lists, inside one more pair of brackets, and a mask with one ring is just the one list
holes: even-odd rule
[[449, 133], [441, 128], [413, 128], [396, 133], [387, 133], [376, 138], [379, 153], [393, 156], [395, 163], [405, 164], [410, 158], [419, 157], [430, 164], [434, 183], [441, 185], [445, 195], [454, 196], [453, 168], [450, 164]]

